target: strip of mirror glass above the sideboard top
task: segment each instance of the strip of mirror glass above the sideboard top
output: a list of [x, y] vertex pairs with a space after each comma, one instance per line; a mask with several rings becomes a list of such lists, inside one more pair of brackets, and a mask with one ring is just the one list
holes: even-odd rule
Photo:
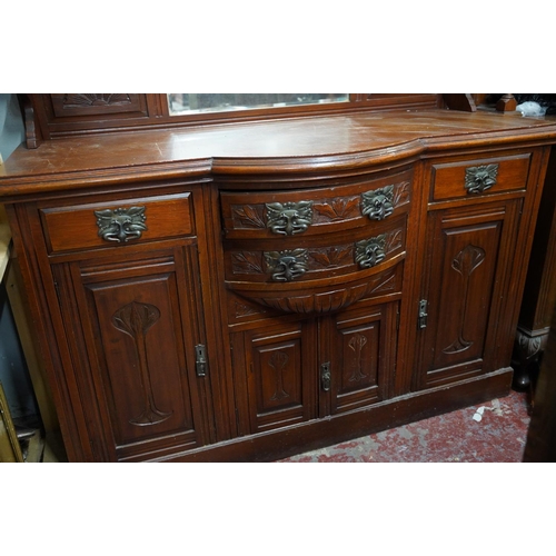
[[198, 93], [168, 95], [170, 116], [202, 112], [227, 112], [256, 108], [280, 108], [306, 105], [348, 102], [347, 92], [288, 92], [288, 93]]

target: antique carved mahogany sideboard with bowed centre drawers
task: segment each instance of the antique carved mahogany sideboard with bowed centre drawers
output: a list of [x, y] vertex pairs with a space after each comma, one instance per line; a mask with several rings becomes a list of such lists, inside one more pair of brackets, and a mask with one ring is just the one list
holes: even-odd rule
[[70, 460], [275, 460], [508, 394], [555, 119], [128, 97], [31, 96], [0, 176]]

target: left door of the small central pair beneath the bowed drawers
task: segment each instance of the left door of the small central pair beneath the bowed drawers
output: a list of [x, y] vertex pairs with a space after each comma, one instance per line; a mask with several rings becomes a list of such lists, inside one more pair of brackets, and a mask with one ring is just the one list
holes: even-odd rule
[[[240, 433], [258, 433], [316, 417], [316, 322], [284, 321], [234, 335]], [[240, 385], [247, 384], [247, 390]]]

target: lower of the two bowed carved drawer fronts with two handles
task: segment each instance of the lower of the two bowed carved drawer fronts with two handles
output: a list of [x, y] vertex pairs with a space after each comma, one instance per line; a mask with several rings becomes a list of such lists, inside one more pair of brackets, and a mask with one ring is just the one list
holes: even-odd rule
[[404, 252], [405, 245], [405, 216], [389, 220], [376, 230], [329, 235], [326, 242], [296, 238], [279, 242], [228, 242], [225, 249], [226, 278], [272, 286], [330, 279], [378, 267]]

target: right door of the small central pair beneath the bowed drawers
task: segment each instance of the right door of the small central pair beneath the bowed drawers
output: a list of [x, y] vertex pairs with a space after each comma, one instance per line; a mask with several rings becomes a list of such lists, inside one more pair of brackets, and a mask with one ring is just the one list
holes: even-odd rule
[[398, 304], [391, 302], [324, 319], [321, 366], [328, 366], [330, 383], [321, 378], [322, 416], [388, 397], [395, 370], [397, 314]]

